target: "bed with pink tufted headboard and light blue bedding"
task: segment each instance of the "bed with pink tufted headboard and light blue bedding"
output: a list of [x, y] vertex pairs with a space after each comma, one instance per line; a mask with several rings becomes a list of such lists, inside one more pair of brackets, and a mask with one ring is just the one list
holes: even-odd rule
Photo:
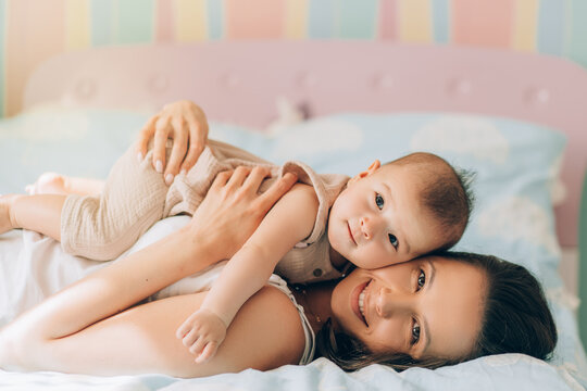
[[[0, 193], [41, 173], [105, 177], [163, 104], [190, 99], [210, 137], [266, 159], [299, 159], [353, 175], [374, 157], [414, 150], [477, 173], [476, 209], [458, 244], [528, 267], [544, 283], [560, 341], [550, 363], [517, 354], [401, 374], [345, 374], [320, 358], [267, 373], [202, 379], [0, 371], [12, 389], [528, 389], [582, 390], [587, 358], [587, 71], [552, 56], [374, 41], [218, 41], [70, 52], [30, 77], [22, 114], [0, 122]], [[586, 191], [583, 191], [584, 198]], [[579, 216], [583, 220], [579, 222]], [[157, 236], [185, 219], [161, 222]], [[579, 232], [580, 228], [580, 232]], [[8, 321], [99, 267], [34, 232], [0, 237], [0, 302]], [[14, 260], [17, 258], [17, 262]], [[49, 260], [49, 261], [47, 261]], [[561, 273], [564, 276], [561, 277]], [[35, 283], [25, 279], [35, 275]], [[10, 278], [8, 277], [10, 276]], [[15, 277], [14, 277], [15, 276]]]

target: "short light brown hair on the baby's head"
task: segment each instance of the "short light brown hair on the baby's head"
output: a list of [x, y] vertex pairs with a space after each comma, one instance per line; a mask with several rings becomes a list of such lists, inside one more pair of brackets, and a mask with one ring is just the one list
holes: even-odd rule
[[437, 250], [448, 250], [461, 239], [473, 209], [473, 174], [455, 169], [442, 157], [414, 152], [386, 164], [410, 165], [422, 179], [421, 201], [445, 235]]

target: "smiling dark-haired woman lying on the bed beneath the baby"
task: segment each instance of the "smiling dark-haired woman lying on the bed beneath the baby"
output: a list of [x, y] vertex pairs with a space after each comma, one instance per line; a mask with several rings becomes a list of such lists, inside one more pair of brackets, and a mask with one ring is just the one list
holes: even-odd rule
[[[196, 364], [182, 345], [189, 336], [183, 341], [174, 336], [205, 293], [136, 305], [202, 263], [234, 254], [291, 185], [286, 179], [259, 195], [260, 181], [255, 171], [241, 182], [220, 175], [188, 226], [0, 330], [0, 367], [195, 377], [299, 363], [308, 349], [303, 323], [296, 303], [278, 289], [265, 287], [246, 303], [205, 364]], [[444, 253], [357, 269], [338, 283], [309, 287], [295, 297], [313, 331], [323, 329], [322, 354], [347, 369], [372, 362], [436, 367], [504, 352], [545, 358], [557, 340], [536, 280], [492, 257]], [[332, 320], [323, 327], [326, 319]]]

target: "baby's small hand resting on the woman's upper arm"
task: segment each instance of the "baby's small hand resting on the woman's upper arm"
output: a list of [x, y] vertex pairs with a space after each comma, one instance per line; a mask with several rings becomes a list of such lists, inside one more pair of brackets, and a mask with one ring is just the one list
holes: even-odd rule
[[196, 363], [205, 363], [216, 354], [226, 337], [226, 325], [212, 311], [200, 308], [179, 326], [176, 337], [196, 355]]

